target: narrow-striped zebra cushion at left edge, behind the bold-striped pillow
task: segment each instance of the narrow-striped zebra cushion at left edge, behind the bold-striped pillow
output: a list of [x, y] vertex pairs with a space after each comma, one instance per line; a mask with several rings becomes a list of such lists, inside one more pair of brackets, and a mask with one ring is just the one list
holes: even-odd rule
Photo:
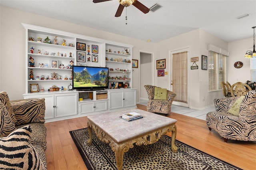
[[12, 121], [8, 110], [0, 101], [0, 137], [7, 136], [13, 130], [16, 130], [15, 124]]

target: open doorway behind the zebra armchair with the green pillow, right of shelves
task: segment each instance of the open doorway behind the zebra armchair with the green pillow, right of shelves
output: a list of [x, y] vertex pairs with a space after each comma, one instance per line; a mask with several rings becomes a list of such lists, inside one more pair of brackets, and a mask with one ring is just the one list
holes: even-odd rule
[[140, 103], [148, 101], [148, 94], [144, 85], [154, 85], [154, 55], [153, 53], [140, 51], [139, 57], [139, 99]]

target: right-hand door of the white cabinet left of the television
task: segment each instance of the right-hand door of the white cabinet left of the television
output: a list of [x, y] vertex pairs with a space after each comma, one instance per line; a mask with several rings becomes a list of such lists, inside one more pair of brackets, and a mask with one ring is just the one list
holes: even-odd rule
[[65, 117], [70, 115], [77, 115], [77, 93], [63, 93], [54, 95], [55, 99], [55, 113], [54, 117]]

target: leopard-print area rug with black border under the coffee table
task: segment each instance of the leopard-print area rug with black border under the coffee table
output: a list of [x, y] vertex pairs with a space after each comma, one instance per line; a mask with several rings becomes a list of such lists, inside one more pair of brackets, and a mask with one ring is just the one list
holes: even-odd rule
[[[70, 131], [88, 170], [117, 170], [115, 154], [92, 130], [92, 145], [87, 145], [88, 129]], [[175, 141], [178, 152], [171, 151], [171, 138], [162, 136], [148, 146], [134, 146], [124, 153], [123, 170], [241, 170], [196, 148]]]

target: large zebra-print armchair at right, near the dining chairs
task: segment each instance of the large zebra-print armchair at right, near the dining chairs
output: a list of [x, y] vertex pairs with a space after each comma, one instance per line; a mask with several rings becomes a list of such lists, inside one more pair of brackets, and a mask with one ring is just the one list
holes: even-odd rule
[[214, 99], [215, 112], [206, 115], [206, 125], [212, 128], [227, 142], [231, 140], [256, 141], [256, 91], [244, 96], [239, 115], [228, 113], [239, 97]]

